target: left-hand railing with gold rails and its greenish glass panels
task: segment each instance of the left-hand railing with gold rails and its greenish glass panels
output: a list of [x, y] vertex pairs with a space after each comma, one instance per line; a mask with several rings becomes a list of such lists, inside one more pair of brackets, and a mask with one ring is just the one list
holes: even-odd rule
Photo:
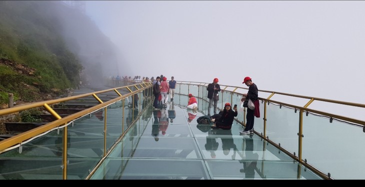
[[[43, 108], [53, 116], [0, 141], [0, 179], [85, 179], [142, 112], [138, 103], [150, 95], [151, 83], [131, 83], [0, 110], [2, 115]], [[82, 105], [87, 108], [77, 108]], [[67, 116], [57, 113], [75, 108]]]

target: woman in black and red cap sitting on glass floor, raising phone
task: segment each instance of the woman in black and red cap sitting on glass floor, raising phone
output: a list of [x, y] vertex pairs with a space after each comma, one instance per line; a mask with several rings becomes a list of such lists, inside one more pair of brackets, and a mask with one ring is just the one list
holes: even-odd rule
[[237, 105], [235, 105], [232, 109], [229, 102], [225, 103], [222, 116], [219, 117], [219, 119], [215, 120], [211, 128], [213, 129], [221, 128], [224, 130], [231, 129], [234, 117], [237, 116], [237, 114], [238, 114]]

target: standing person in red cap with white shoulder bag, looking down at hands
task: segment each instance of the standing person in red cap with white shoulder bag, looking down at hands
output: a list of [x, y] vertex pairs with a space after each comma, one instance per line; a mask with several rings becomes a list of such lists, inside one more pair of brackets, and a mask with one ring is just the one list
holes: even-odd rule
[[[252, 79], [249, 76], [244, 77], [243, 82], [248, 86], [248, 92], [243, 93], [243, 97], [241, 98], [241, 101], [251, 99], [252, 102], [255, 103], [255, 101], [258, 98], [258, 89], [255, 83], [252, 82]], [[258, 101], [256, 102], [258, 104]], [[256, 105], [256, 104], [255, 104]], [[255, 108], [256, 109], [256, 108]], [[258, 109], [258, 107], [257, 107]], [[240, 134], [253, 134], [253, 123], [254, 123], [254, 109], [249, 109], [247, 107], [247, 114], [246, 114], [246, 127], [240, 131]]]

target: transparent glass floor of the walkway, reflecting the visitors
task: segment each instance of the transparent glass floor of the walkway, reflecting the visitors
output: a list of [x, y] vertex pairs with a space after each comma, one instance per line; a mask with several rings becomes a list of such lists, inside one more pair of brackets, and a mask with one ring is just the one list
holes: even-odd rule
[[239, 135], [238, 123], [211, 129], [197, 124], [203, 113], [170, 106], [145, 110], [147, 124], [140, 118], [90, 179], [321, 179], [259, 136]]

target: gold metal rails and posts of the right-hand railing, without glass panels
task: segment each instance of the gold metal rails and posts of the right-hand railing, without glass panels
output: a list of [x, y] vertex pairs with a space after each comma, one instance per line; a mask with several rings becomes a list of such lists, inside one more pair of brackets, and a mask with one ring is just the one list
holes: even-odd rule
[[[181, 89], [182, 85], [186, 85], [187, 86], [187, 92], [185, 92], [184, 94], [188, 94], [191, 92], [191, 86], [204, 86], [203, 89], [206, 89], [208, 83], [202, 83], [202, 82], [192, 82], [192, 81], [177, 81], [177, 85], [179, 86], [179, 91], [183, 92], [183, 90]], [[220, 84], [220, 88], [222, 91], [224, 92], [228, 92], [229, 93], [229, 98], [228, 101], [230, 101], [230, 103], [233, 102], [233, 95], [237, 94], [237, 95], [241, 95], [242, 93], [246, 93], [248, 88], [246, 87], [239, 87], [239, 86], [229, 86], [229, 85], [221, 85]], [[241, 92], [238, 92], [237, 90], [240, 89]], [[335, 103], [335, 104], [342, 104], [342, 105], [347, 105], [347, 106], [356, 106], [356, 107], [361, 107], [361, 108], [365, 108], [365, 104], [360, 104], [360, 103], [353, 103], [353, 102], [345, 102], [345, 101], [338, 101], [338, 100], [331, 100], [331, 99], [325, 99], [325, 98], [319, 98], [319, 97], [310, 97], [310, 96], [303, 96], [303, 95], [297, 95], [297, 94], [289, 94], [289, 93], [284, 93], [284, 92], [274, 92], [274, 91], [267, 91], [267, 90], [258, 90], [259, 91], [259, 95], [260, 93], [267, 93], [269, 94], [269, 96], [267, 96], [266, 98], [262, 98], [259, 97], [258, 99], [262, 101], [262, 103], [264, 103], [264, 111], [263, 113], [261, 113], [261, 115], [263, 115], [263, 134], [259, 134], [256, 132], [257, 135], [261, 136], [263, 139], [265, 139], [266, 141], [270, 142], [271, 144], [273, 144], [274, 146], [276, 146], [277, 148], [279, 148], [280, 150], [282, 150], [283, 152], [285, 152], [286, 154], [290, 155], [293, 159], [299, 161], [300, 163], [302, 163], [304, 166], [310, 168], [311, 170], [315, 171], [317, 174], [319, 174], [321, 177], [323, 178], [330, 178], [330, 174], [324, 174], [322, 173], [320, 170], [318, 170], [317, 168], [313, 167], [312, 165], [308, 164], [306, 162], [306, 160], [302, 159], [302, 137], [303, 137], [303, 121], [302, 121], [302, 117], [303, 117], [303, 112], [307, 113], [307, 112], [311, 112], [314, 114], [318, 114], [318, 115], [324, 115], [324, 116], [328, 116], [330, 118], [335, 118], [335, 119], [339, 119], [342, 121], [346, 121], [348, 123], [355, 123], [358, 126], [361, 126], [363, 129], [365, 126], [365, 121], [363, 120], [359, 120], [359, 119], [354, 119], [351, 117], [346, 117], [346, 116], [341, 116], [341, 115], [337, 115], [337, 114], [332, 114], [332, 113], [328, 113], [328, 112], [324, 112], [324, 111], [319, 111], [319, 110], [315, 110], [315, 109], [310, 109], [307, 108], [312, 102], [314, 101], [323, 101], [323, 102], [327, 102], [327, 103]], [[207, 92], [201, 92], [200, 89], [199, 91], [197, 91], [197, 93], [194, 94], [195, 97], [198, 97], [202, 100], [208, 101], [208, 98], [206, 97], [206, 93]], [[204, 95], [205, 94], [205, 95]], [[304, 99], [309, 99], [309, 101], [307, 101], [307, 103], [304, 106], [298, 106], [298, 105], [293, 105], [293, 104], [288, 104], [288, 103], [284, 103], [284, 102], [280, 102], [280, 101], [276, 101], [276, 100], [272, 100], [271, 97], [273, 95], [285, 95], [285, 96], [291, 96], [291, 97], [295, 97], [295, 98], [304, 98]], [[224, 100], [224, 94], [221, 94], [220, 100]], [[299, 110], [299, 119], [298, 119], [298, 155], [292, 152], [287, 151], [286, 149], [284, 149], [283, 147], [280, 146], [280, 144], [277, 144], [277, 142], [273, 142], [270, 139], [268, 139], [268, 136], [266, 135], [266, 114], [267, 114], [267, 109], [266, 106], [268, 103], [275, 103], [278, 104], [280, 106], [287, 106], [287, 107], [291, 107], [294, 108], [295, 110]], [[221, 107], [223, 108], [223, 102], [220, 103]], [[245, 125], [245, 108], [243, 110], [243, 118], [236, 118], [235, 120], [240, 123], [241, 125]], [[300, 170], [300, 165], [298, 166], [298, 170]]]

